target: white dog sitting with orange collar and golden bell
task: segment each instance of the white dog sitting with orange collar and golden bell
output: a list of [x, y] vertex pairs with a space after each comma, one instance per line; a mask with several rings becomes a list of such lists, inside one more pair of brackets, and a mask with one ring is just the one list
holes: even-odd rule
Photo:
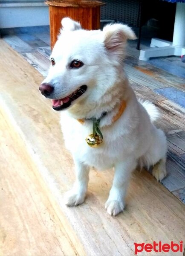
[[[62, 27], [40, 91], [52, 99], [55, 110], [65, 109], [61, 111], [61, 127], [76, 172], [66, 205], [84, 202], [91, 166], [114, 167], [105, 208], [110, 215], [117, 215], [124, 209], [130, 175], [138, 163], [157, 163], [153, 176], [157, 180], [166, 176], [166, 137], [153, 125], [159, 113], [152, 103], [136, 99], [124, 73], [126, 41], [136, 38], [132, 29], [117, 23], [103, 31], [87, 31], [69, 18], [62, 20]], [[93, 123], [97, 127], [94, 131]], [[87, 144], [89, 134], [94, 134], [89, 144], [97, 147]]]

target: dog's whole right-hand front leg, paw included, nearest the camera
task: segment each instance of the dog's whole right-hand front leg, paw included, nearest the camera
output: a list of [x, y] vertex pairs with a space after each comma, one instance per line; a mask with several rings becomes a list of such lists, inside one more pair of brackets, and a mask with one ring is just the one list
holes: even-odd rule
[[130, 176], [136, 168], [137, 161], [133, 157], [115, 164], [113, 186], [110, 189], [109, 198], [105, 203], [105, 209], [110, 215], [116, 216], [124, 209], [124, 198], [127, 192]]

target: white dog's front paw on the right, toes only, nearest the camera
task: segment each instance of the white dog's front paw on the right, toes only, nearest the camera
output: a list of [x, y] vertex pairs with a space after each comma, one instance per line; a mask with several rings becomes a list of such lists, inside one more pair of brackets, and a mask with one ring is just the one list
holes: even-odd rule
[[107, 200], [105, 203], [105, 209], [110, 215], [116, 216], [119, 212], [124, 210], [124, 203], [117, 200]]

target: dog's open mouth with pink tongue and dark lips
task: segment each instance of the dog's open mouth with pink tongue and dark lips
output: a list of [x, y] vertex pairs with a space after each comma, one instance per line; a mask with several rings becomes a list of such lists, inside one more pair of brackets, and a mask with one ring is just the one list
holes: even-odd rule
[[65, 108], [69, 108], [71, 103], [78, 99], [82, 94], [84, 94], [87, 90], [87, 85], [82, 85], [80, 88], [75, 90], [69, 96], [63, 99], [52, 99], [52, 108], [56, 111], [63, 110]]

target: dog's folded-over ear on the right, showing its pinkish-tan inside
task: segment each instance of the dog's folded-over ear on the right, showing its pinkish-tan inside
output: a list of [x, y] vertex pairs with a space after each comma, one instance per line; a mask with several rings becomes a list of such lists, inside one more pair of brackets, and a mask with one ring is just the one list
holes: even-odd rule
[[130, 27], [120, 23], [105, 26], [103, 33], [105, 47], [121, 62], [124, 59], [124, 48], [127, 39], [136, 39], [135, 33]]

